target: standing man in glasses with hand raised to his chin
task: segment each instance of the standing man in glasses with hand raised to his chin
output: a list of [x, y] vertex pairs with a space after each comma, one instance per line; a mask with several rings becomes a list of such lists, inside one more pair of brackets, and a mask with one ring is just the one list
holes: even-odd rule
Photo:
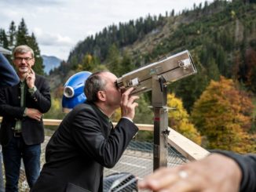
[[29, 187], [38, 179], [44, 141], [42, 114], [51, 106], [49, 83], [31, 68], [35, 64], [33, 50], [27, 45], [17, 46], [13, 50], [13, 63], [20, 82], [0, 90], [5, 192], [18, 191], [21, 158]]

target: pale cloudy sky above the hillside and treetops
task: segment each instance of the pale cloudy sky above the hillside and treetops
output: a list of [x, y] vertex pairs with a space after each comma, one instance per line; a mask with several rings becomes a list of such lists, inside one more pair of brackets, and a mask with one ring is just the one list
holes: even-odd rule
[[[35, 34], [42, 55], [68, 60], [78, 42], [104, 27], [140, 17], [165, 16], [174, 9], [192, 9], [203, 0], [0, 0], [0, 28], [9, 30], [24, 18]], [[213, 2], [213, 0], [207, 0]]]

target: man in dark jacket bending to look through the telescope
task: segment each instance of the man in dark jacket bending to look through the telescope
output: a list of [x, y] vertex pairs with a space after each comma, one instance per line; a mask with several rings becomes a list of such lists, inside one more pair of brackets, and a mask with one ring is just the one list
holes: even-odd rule
[[[121, 92], [115, 74], [100, 71], [85, 83], [86, 102], [60, 124], [46, 147], [46, 164], [32, 192], [102, 191], [103, 168], [112, 168], [138, 129], [133, 124], [138, 96]], [[113, 129], [110, 118], [121, 107]]]

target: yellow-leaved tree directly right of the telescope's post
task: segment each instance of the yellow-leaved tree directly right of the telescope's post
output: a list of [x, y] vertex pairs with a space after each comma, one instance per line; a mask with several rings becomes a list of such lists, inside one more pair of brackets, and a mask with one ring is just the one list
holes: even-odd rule
[[182, 101], [175, 97], [174, 93], [167, 95], [167, 106], [170, 107], [168, 112], [169, 126], [188, 139], [192, 139], [195, 143], [201, 144], [199, 132], [189, 120], [188, 112], [183, 107]]

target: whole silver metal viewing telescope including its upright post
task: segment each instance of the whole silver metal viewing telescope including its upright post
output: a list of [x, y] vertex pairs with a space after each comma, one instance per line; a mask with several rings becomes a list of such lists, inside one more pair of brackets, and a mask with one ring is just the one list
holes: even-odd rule
[[153, 169], [167, 166], [168, 107], [167, 85], [196, 74], [196, 67], [188, 50], [168, 56], [155, 63], [141, 67], [118, 78], [116, 86], [119, 89], [134, 87], [132, 95], [152, 91], [152, 108], [154, 111], [154, 147]]

